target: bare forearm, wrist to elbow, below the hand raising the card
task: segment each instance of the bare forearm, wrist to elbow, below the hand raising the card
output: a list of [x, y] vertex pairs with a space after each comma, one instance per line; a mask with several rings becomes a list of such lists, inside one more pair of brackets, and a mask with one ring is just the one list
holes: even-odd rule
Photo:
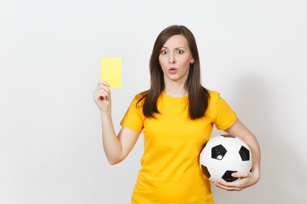
[[122, 155], [122, 145], [116, 136], [111, 113], [101, 113], [102, 145], [110, 164], [119, 162]]

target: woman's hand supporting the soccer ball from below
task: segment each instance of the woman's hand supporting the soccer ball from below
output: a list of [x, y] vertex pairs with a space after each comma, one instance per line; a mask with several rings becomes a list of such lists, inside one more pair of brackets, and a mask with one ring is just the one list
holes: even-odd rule
[[236, 172], [232, 173], [231, 176], [240, 179], [232, 182], [215, 181], [213, 184], [228, 191], [240, 191], [244, 188], [256, 184], [260, 178], [259, 174], [252, 172]]

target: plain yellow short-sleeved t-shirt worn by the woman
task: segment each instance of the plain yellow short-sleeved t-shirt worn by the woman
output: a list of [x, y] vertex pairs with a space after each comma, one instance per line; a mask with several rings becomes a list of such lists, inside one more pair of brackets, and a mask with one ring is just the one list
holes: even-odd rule
[[162, 92], [157, 101], [156, 119], [143, 115], [141, 97], [132, 100], [121, 125], [144, 132], [144, 154], [133, 189], [131, 204], [213, 204], [210, 182], [199, 163], [201, 149], [209, 140], [213, 124], [229, 128], [236, 113], [220, 93], [209, 91], [206, 116], [188, 118], [188, 96], [171, 97]]

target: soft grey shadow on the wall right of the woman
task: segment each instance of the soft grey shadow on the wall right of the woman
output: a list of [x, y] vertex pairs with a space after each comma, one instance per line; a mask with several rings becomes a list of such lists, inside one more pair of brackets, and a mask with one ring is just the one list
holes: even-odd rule
[[[261, 150], [261, 177], [256, 185], [242, 191], [226, 191], [212, 185], [216, 204], [301, 204], [306, 202], [306, 159], [287, 141], [295, 139], [288, 123], [284, 95], [277, 93], [265, 76], [246, 75], [233, 83], [228, 100], [238, 118], [254, 133]], [[279, 113], [278, 113], [279, 112]], [[282, 112], [282, 113], [280, 113]], [[284, 116], [282, 116], [284, 115]], [[291, 139], [289, 137], [292, 137]], [[304, 190], [305, 189], [305, 190]], [[231, 201], [231, 202], [230, 202]]]

